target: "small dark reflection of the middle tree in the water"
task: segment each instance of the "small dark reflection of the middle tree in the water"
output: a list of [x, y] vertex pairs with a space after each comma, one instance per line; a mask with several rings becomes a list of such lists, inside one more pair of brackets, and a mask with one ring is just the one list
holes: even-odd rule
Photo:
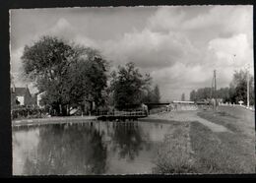
[[145, 134], [138, 123], [117, 122], [113, 127], [112, 140], [115, 142], [113, 150], [119, 152], [120, 158], [128, 157], [128, 160], [134, 160], [144, 149], [144, 146], [149, 147], [148, 141], [144, 141], [142, 138]]

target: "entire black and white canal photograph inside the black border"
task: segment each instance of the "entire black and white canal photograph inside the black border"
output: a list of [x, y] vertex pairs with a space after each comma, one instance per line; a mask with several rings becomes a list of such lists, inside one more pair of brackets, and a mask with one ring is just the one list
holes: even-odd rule
[[256, 173], [252, 5], [9, 19], [13, 175]]

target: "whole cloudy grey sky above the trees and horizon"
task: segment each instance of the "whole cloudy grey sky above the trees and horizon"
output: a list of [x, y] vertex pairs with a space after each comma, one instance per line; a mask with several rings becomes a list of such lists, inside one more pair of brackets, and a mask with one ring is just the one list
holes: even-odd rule
[[252, 6], [23, 9], [10, 16], [17, 87], [28, 83], [21, 77], [24, 46], [45, 34], [95, 47], [113, 67], [135, 62], [159, 85], [162, 101], [211, 87], [214, 69], [221, 88], [234, 69], [253, 67]]

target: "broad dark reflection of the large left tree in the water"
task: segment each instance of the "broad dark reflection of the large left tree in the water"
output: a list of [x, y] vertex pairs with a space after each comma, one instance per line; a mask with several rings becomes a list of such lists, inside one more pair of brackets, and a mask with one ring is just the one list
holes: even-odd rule
[[106, 147], [94, 126], [48, 125], [39, 128], [39, 143], [25, 162], [25, 174], [102, 174]]

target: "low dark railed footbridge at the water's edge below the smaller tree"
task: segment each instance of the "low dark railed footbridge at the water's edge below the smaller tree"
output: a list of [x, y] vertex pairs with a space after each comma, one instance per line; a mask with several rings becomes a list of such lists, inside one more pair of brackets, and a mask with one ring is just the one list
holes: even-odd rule
[[147, 117], [148, 114], [145, 110], [136, 110], [136, 111], [101, 111], [97, 114], [97, 120], [102, 121], [135, 121], [138, 118]]

